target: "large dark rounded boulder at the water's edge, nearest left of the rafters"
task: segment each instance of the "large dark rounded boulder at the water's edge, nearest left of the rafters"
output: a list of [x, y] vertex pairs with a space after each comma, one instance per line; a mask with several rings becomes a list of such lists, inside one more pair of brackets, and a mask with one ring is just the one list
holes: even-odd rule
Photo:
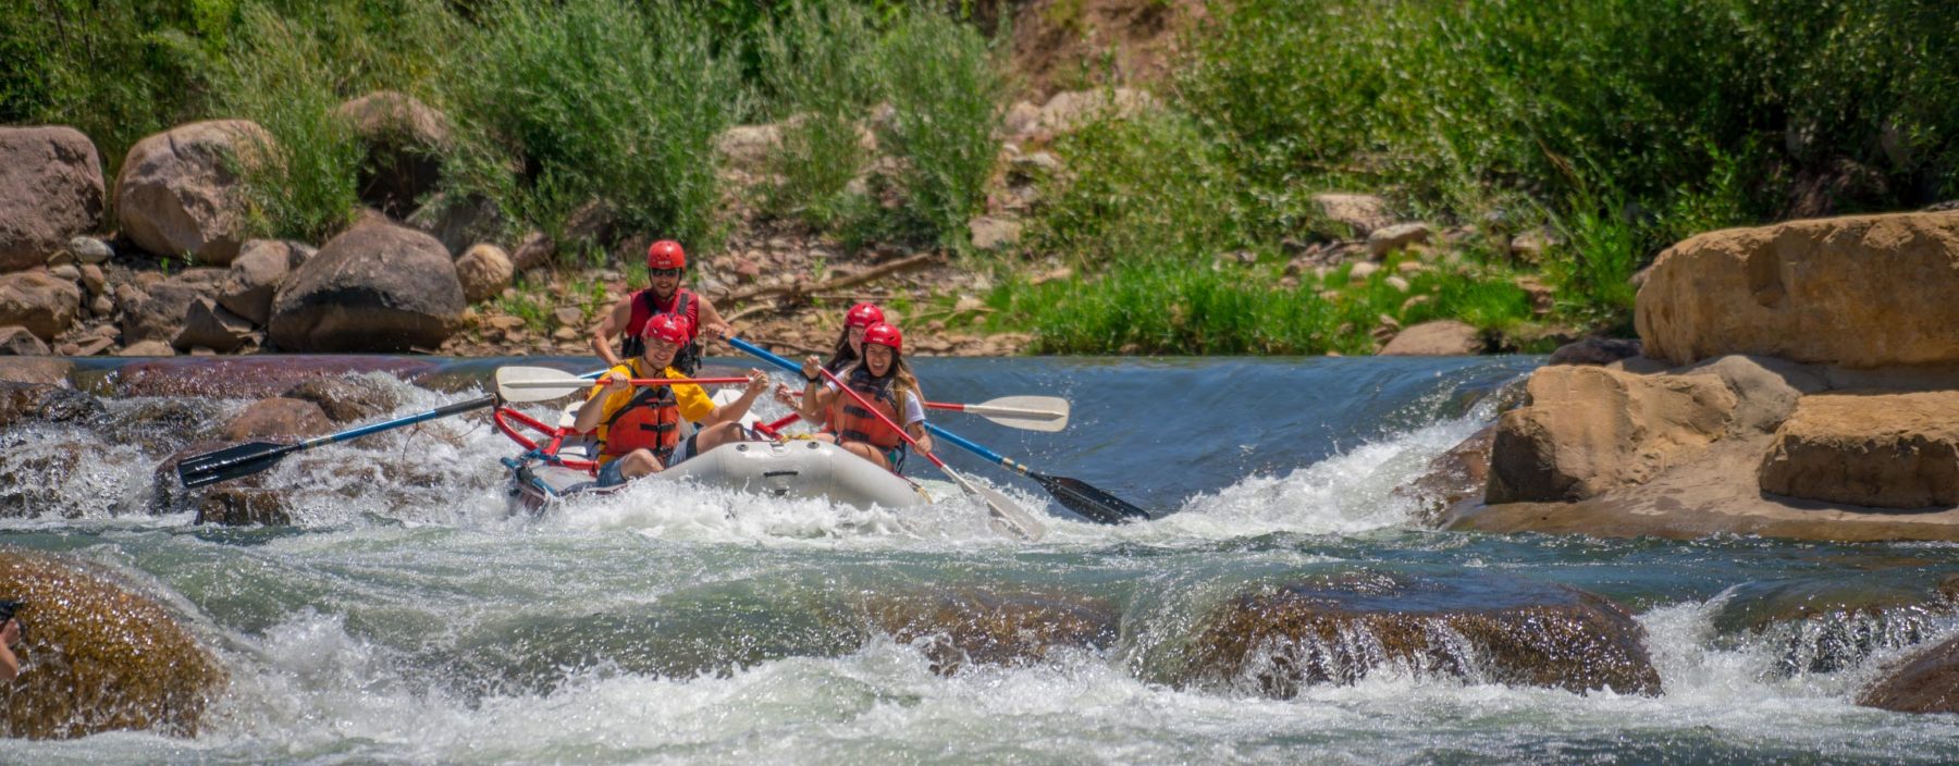
[[366, 223], [286, 278], [272, 300], [270, 341], [282, 351], [427, 351], [460, 327], [464, 306], [443, 243]]

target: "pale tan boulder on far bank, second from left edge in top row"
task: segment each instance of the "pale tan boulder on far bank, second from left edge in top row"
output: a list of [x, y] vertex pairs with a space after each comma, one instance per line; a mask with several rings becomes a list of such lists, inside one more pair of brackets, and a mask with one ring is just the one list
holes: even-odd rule
[[137, 247], [227, 266], [245, 231], [239, 168], [272, 135], [247, 120], [178, 125], [129, 147], [116, 176], [116, 219]]

